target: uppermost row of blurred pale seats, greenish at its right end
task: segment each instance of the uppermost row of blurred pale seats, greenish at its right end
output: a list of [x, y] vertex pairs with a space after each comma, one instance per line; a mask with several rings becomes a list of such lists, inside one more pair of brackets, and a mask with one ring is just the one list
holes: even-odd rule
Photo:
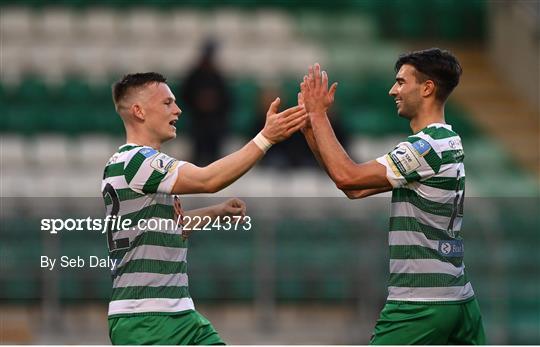
[[[36, 41], [38, 38], [48, 38], [53, 42], [72, 41], [75, 38], [93, 42], [101, 38], [101, 43], [138, 38], [139, 42], [144, 43], [150, 38], [167, 40], [189, 37], [195, 40], [204, 37], [205, 33], [215, 34], [225, 41], [248, 42], [259, 39], [287, 41], [297, 35], [337, 35], [343, 41], [355, 39], [357, 42], [369, 42], [377, 37], [373, 18], [355, 12], [326, 13], [324, 18], [335, 24], [325, 30], [321, 30], [323, 17], [320, 13], [287, 13], [269, 9], [249, 12], [234, 9], [160, 12], [141, 8], [123, 11], [51, 8], [33, 11], [18, 7], [6, 8], [0, 18], [5, 23], [7, 43], [17, 38]], [[104, 34], [108, 36], [102, 37]]]

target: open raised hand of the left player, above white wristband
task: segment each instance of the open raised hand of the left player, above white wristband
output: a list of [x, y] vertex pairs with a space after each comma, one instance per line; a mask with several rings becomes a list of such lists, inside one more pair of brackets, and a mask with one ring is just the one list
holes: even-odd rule
[[262, 134], [272, 143], [281, 142], [305, 126], [307, 112], [303, 106], [294, 106], [277, 113], [281, 100], [276, 98], [266, 113]]

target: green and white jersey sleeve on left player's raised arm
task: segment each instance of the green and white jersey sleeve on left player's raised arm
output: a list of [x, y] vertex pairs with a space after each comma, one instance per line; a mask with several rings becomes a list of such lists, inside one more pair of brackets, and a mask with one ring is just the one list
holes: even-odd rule
[[186, 162], [150, 147], [140, 149], [129, 160], [124, 173], [129, 187], [143, 194], [171, 194], [178, 169]]

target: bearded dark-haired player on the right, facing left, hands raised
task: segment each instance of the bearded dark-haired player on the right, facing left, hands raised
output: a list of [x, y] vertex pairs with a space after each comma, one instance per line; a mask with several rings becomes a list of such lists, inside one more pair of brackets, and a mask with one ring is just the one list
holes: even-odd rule
[[445, 122], [445, 102], [462, 68], [437, 48], [403, 54], [389, 91], [414, 135], [376, 160], [357, 164], [336, 139], [327, 110], [337, 83], [310, 66], [299, 103], [313, 154], [350, 199], [392, 190], [388, 298], [370, 343], [485, 344], [482, 317], [463, 263], [465, 192], [461, 138]]

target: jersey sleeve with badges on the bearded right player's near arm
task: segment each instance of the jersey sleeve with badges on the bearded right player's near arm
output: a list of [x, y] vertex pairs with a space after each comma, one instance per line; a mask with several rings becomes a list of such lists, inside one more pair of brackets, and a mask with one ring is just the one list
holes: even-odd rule
[[428, 179], [439, 172], [442, 159], [434, 146], [435, 143], [409, 136], [407, 141], [399, 143], [390, 153], [376, 160], [386, 167], [390, 184], [399, 188], [407, 183]]

